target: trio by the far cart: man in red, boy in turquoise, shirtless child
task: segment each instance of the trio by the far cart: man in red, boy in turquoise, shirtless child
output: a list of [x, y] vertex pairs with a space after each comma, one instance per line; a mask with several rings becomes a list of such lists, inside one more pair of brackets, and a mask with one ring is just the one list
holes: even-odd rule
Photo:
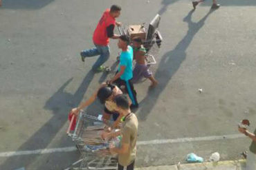
[[[116, 72], [116, 75], [108, 82], [115, 83], [118, 87], [125, 87], [125, 91], [129, 94], [129, 98], [132, 102], [131, 107], [138, 107], [134, 83], [137, 83], [142, 76], [152, 81], [151, 87], [156, 87], [158, 82], [152, 75], [152, 72], [149, 71], [145, 60], [147, 50], [143, 47], [143, 40], [140, 39], [140, 37], [135, 37], [130, 40], [127, 35], [114, 34], [115, 26], [121, 24], [116, 21], [116, 18], [120, 16], [120, 11], [120, 6], [116, 5], [104, 11], [93, 33], [93, 43], [95, 47], [90, 50], [82, 50], [80, 55], [82, 61], [85, 61], [87, 57], [100, 55], [98, 60], [94, 63], [92, 70], [102, 72], [106, 69], [103, 64], [110, 56], [109, 39], [118, 39], [118, 48], [122, 50], [120, 53], [118, 72]], [[136, 61], [136, 65], [133, 70], [134, 60]]]

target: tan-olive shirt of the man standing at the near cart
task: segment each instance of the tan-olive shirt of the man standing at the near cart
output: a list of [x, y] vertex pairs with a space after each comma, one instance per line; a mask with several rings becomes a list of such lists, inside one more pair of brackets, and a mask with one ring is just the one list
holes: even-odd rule
[[138, 119], [135, 114], [129, 114], [125, 118], [125, 122], [121, 127], [121, 145], [122, 143], [129, 144], [128, 153], [118, 154], [118, 163], [123, 167], [134, 162], [136, 157], [136, 142], [138, 134]]

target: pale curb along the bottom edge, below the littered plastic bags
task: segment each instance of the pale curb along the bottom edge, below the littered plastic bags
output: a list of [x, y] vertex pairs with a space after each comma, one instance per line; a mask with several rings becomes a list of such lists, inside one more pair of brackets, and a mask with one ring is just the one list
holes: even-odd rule
[[136, 170], [245, 170], [246, 160], [226, 160], [158, 167], [138, 167]]

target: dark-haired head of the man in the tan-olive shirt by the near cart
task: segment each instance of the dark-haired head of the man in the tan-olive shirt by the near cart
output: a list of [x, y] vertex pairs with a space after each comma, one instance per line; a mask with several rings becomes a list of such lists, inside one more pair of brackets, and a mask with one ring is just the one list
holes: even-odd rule
[[113, 100], [116, 103], [116, 111], [120, 114], [127, 113], [127, 111], [129, 111], [129, 100], [125, 94], [120, 94]]

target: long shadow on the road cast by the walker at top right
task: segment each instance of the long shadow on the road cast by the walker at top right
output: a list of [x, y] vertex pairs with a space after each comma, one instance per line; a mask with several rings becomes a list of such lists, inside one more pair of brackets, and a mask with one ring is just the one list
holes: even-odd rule
[[203, 27], [205, 20], [213, 11], [214, 10], [210, 10], [205, 17], [196, 23], [191, 21], [194, 10], [191, 10], [183, 19], [184, 22], [188, 23], [188, 32], [178, 45], [176, 45], [174, 50], [167, 52], [162, 56], [161, 62], [159, 63], [155, 73], [155, 77], [158, 80], [159, 85], [155, 89], [149, 89], [147, 96], [145, 96], [145, 98], [140, 102], [141, 108], [138, 112], [138, 118], [140, 120], [147, 119], [148, 114], [153, 109], [154, 105], [156, 105], [156, 100], [158, 100], [172, 76], [177, 72], [177, 70], [179, 70], [181, 63], [185, 60], [185, 51], [188, 49], [192, 39]]

